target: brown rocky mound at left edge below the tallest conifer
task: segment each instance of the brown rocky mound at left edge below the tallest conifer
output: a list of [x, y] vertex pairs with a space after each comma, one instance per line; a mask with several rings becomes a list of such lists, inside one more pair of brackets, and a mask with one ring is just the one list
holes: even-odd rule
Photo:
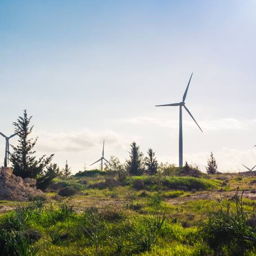
[[36, 188], [36, 180], [12, 174], [10, 167], [0, 168], [0, 200], [28, 201], [30, 197], [44, 196]]

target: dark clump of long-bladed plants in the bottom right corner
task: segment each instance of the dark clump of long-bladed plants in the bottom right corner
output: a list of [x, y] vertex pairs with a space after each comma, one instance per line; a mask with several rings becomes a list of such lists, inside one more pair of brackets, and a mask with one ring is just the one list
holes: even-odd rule
[[256, 230], [249, 226], [248, 214], [244, 211], [242, 195], [236, 196], [236, 210], [220, 208], [209, 214], [208, 221], [203, 223], [201, 232], [211, 248], [221, 251], [224, 247], [230, 255], [242, 255], [246, 249], [256, 246]]

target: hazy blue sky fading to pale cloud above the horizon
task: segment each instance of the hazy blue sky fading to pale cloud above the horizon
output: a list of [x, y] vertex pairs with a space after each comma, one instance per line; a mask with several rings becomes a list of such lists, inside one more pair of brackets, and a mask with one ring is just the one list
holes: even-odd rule
[[178, 164], [179, 109], [154, 105], [181, 101], [193, 72], [186, 105], [204, 133], [183, 112], [184, 160], [205, 170], [213, 151], [220, 171], [252, 167], [255, 12], [256, 0], [1, 0], [0, 131], [27, 109], [38, 156], [73, 173], [103, 139], [107, 158], [135, 140]]

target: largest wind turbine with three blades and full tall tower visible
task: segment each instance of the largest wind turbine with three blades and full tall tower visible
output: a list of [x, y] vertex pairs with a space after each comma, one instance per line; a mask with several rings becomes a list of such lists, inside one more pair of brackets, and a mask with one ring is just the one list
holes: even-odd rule
[[172, 103], [172, 104], [165, 104], [165, 105], [156, 105], [155, 107], [166, 107], [166, 106], [179, 106], [179, 167], [183, 166], [183, 139], [182, 139], [182, 107], [186, 109], [189, 116], [192, 117], [192, 119], [195, 121], [196, 125], [199, 127], [199, 129], [202, 131], [198, 123], [196, 122], [195, 118], [192, 116], [192, 114], [189, 112], [188, 108], [185, 105], [185, 100], [188, 92], [188, 86], [191, 81], [193, 73], [191, 74], [191, 77], [189, 78], [188, 85], [186, 88], [186, 91], [184, 92], [182, 101], [179, 103]]

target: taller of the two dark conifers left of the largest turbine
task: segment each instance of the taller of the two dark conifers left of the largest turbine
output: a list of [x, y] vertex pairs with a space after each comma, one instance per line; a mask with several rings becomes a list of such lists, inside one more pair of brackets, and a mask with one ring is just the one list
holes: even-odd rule
[[143, 174], [143, 154], [139, 151], [139, 146], [136, 142], [131, 143], [130, 159], [126, 161], [126, 167], [130, 175]]

